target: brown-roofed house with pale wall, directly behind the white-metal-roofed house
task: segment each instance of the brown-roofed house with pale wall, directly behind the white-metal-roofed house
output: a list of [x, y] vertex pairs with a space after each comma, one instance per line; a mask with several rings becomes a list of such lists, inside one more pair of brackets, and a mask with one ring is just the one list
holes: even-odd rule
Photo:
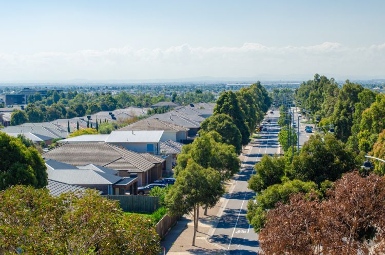
[[161, 121], [158, 119], [142, 119], [127, 126], [117, 129], [117, 131], [154, 131], [154, 130], [163, 130], [161, 141], [172, 140], [175, 142], [182, 142], [187, 139], [188, 128], [169, 123], [166, 121]]

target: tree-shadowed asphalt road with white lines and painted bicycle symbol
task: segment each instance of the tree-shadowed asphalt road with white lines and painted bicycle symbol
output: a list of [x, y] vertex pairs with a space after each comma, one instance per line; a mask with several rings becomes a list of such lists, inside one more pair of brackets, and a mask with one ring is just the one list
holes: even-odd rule
[[274, 111], [274, 114], [268, 113], [264, 120], [271, 120], [271, 123], [266, 123], [267, 132], [260, 133], [261, 138], [249, 144], [250, 148], [245, 154], [241, 171], [234, 177], [234, 189], [227, 194], [227, 204], [224, 203], [223, 214], [210, 238], [211, 243], [222, 246], [227, 250], [227, 254], [256, 254], [259, 250], [258, 234], [246, 219], [247, 203], [255, 195], [247, 188], [247, 181], [254, 173], [254, 165], [260, 161], [263, 154], [278, 153], [278, 117], [278, 111]]

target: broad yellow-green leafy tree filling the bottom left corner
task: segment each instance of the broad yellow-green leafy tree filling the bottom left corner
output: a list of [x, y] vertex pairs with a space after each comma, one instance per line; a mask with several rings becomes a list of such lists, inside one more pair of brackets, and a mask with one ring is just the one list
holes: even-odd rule
[[1, 254], [156, 255], [160, 240], [150, 220], [126, 215], [98, 192], [66, 193], [14, 186], [0, 192]]

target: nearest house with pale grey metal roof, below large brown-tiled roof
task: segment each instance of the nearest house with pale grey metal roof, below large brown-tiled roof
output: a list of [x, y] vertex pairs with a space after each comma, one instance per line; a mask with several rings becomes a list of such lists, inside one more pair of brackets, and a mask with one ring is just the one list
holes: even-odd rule
[[75, 167], [55, 160], [47, 160], [46, 166], [50, 180], [97, 189], [104, 195], [138, 193], [138, 178], [135, 173], [122, 177], [114, 169], [93, 164]]

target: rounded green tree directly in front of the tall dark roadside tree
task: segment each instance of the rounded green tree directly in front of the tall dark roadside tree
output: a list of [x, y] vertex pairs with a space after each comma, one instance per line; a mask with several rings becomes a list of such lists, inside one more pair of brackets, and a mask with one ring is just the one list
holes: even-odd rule
[[233, 119], [227, 114], [216, 114], [208, 117], [201, 123], [201, 129], [205, 132], [216, 131], [222, 136], [222, 142], [233, 145], [237, 154], [242, 150], [242, 135]]

